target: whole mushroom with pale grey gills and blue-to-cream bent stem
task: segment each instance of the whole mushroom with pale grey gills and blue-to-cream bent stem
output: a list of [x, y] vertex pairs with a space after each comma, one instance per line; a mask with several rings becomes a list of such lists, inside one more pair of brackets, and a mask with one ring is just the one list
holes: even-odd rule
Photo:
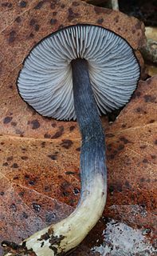
[[81, 193], [68, 218], [33, 234], [18, 251], [58, 255], [77, 246], [95, 226], [107, 197], [100, 114], [128, 102], [139, 74], [139, 63], [128, 42], [101, 26], [65, 27], [31, 50], [18, 77], [19, 93], [43, 116], [77, 118], [82, 140]]

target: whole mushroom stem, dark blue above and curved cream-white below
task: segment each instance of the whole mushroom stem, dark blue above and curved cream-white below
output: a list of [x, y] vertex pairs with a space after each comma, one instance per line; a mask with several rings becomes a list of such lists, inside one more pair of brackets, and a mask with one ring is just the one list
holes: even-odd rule
[[16, 252], [12, 250], [7, 256], [17, 252], [23, 256], [61, 255], [80, 244], [104, 210], [107, 194], [104, 132], [89, 80], [88, 62], [78, 58], [71, 66], [74, 105], [82, 136], [80, 201], [68, 218], [33, 234], [21, 246], [14, 246]]

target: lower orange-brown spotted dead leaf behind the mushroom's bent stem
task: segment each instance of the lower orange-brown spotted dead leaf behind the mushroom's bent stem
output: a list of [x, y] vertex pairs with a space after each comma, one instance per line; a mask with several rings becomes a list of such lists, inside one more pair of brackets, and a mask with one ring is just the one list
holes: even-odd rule
[[[151, 229], [152, 243], [157, 192], [156, 84], [157, 76], [140, 82], [131, 102], [106, 130], [108, 202], [104, 216]], [[80, 138], [2, 135], [0, 141], [1, 240], [20, 242], [64, 218], [73, 210], [70, 206], [76, 206], [80, 196]], [[75, 255], [81, 255], [81, 250], [96, 255], [88, 252], [105, 225], [98, 223]]]

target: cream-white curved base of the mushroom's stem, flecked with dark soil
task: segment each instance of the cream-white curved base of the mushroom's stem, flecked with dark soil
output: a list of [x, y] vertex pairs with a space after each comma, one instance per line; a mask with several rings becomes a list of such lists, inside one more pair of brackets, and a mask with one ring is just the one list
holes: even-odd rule
[[96, 174], [91, 183], [91, 189], [83, 192], [76, 210], [61, 222], [48, 226], [27, 238], [26, 250], [33, 251], [37, 256], [55, 256], [73, 249], [82, 242], [96, 225], [106, 202], [107, 186], [102, 175]]

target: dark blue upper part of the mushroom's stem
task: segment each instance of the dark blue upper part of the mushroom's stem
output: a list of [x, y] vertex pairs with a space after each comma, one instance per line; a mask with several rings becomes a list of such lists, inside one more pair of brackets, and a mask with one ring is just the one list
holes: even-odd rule
[[82, 137], [80, 178], [81, 194], [84, 194], [85, 190], [92, 192], [92, 181], [96, 174], [101, 174], [106, 182], [104, 131], [92, 92], [88, 62], [77, 58], [71, 62], [71, 65], [74, 106]]

